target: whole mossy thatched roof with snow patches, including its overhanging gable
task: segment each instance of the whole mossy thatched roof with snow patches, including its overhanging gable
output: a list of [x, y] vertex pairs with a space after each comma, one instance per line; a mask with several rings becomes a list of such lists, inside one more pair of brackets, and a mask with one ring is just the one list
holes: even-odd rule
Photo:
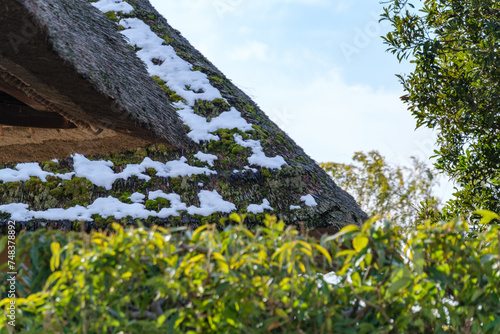
[[[92, 2], [99, 8], [106, 1]], [[26, 28], [18, 22], [38, 30], [17, 44], [19, 52], [5, 47], [8, 34], [0, 34], [4, 82], [26, 95], [34, 92], [29, 96], [47, 112], [78, 126], [102, 127], [112, 115], [110, 104], [119, 107], [116, 115], [127, 117], [113, 118], [111, 129], [94, 142], [95, 151], [68, 146], [70, 153], [90, 160], [65, 151], [66, 158], [55, 162], [0, 168], [0, 221], [18, 217], [31, 228], [74, 228], [79, 217], [88, 227], [105, 227], [118, 217], [132, 224], [140, 219], [197, 225], [237, 210], [249, 212], [250, 224], [270, 213], [290, 224], [332, 230], [367, 219], [349, 194], [147, 0], [106, 3], [128, 10], [104, 15], [83, 0], [5, 1], [2, 31], [22, 34]], [[148, 49], [148, 43], [157, 44]], [[33, 115], [38, 106], [25, 103], [25, 112]], [[109, 146], [114, 130], [143, 142], [124, 147], [120, 142], [126, 140], [115, 138], [111, 146], [116, 143], [116, 150], [99, 150]], [[67, 136], [73, 130], [43, 131], [50, 137], [54, 131]], [[8, 144], [4, 139], [3, 147], [0, 137], [0, 150], [16, 145], [41, 149], [49, 142], [35, 137]], [[96, 176], [97, 169], [107, 176]], [[113, 207], [115, 214], [109, 214]], [[66, 218], [54, 219], [56, 212]]]

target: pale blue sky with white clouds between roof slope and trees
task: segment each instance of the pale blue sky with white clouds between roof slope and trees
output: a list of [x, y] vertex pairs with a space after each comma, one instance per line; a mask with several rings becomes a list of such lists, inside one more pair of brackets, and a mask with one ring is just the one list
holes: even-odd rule
[[[434, 134], [415, 130], [387, 53], [379, 1], [152, 0], [168, 22], [316, 161], [378, 150], [428, 161]], [[448, 197], [452, 187], [436, 195]]]

